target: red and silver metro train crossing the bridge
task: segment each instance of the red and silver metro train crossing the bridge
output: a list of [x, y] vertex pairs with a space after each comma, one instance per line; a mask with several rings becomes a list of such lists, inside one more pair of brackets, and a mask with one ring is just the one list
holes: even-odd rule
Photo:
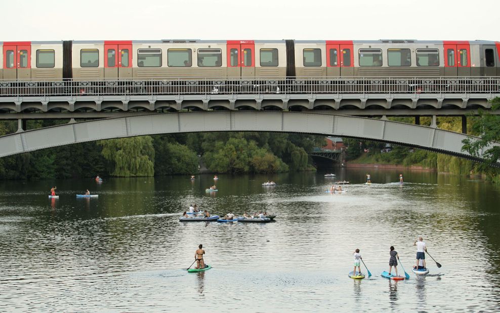
[[500, 76], [491, 41], [0, 42], [0, 80]]

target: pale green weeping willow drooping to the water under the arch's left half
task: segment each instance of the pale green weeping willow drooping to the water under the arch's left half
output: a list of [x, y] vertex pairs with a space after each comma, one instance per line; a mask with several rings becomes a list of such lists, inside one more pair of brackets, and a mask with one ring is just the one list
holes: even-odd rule
[[102, 155], [114, 166], [112, 176], [154, 175], [154, 147], [150, 136], [99, 141]]

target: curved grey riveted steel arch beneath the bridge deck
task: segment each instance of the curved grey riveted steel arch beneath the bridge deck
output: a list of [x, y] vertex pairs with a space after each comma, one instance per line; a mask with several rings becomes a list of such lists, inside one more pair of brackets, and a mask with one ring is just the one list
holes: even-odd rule
[[[461, 133], [348, 115], [288, 111], [156, 113], [68, 123], [0, 137], [0, 158], [39, 149], [103, 139], [220, 131], [265, 131], [351, 137], [395, 143], [460, 156], [474, 161], [483, 161], [481, 157], [476, 158], [468, 152], [462, 151], [462, 140], [470, 138], [470, 136]], [[500, 143], [494, 145], [500, 145]], [[500, 163], [497, 165], [500, 166]]]

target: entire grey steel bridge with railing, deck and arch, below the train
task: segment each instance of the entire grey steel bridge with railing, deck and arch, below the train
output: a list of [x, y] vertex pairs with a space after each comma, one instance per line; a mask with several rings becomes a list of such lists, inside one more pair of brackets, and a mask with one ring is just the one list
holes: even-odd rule
[[[0, 81], [0, 119], [19, 122], [16, 134], [0, 137], [0, 157], [140, 135], [270, 131], [362, 138], [481, 161], [461, 151], [467, 136], [437, 129], [436, 116], [462, 116], [465, 134], [466, 114], [490, 108], [499, 96], [500, 77]], [[416, 125], [386, 116], [414, 116]], [[419, 126], [420, 116], [432, 116], [431, 127]], [[25, 131], [29, 119], [70, 123]]]

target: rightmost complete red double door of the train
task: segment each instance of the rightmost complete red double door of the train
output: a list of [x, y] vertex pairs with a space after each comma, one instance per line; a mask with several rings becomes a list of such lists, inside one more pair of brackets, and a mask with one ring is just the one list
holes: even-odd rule
[[443, 42], [444, 75], [470, 76], [471, 50], [468, 42]]

